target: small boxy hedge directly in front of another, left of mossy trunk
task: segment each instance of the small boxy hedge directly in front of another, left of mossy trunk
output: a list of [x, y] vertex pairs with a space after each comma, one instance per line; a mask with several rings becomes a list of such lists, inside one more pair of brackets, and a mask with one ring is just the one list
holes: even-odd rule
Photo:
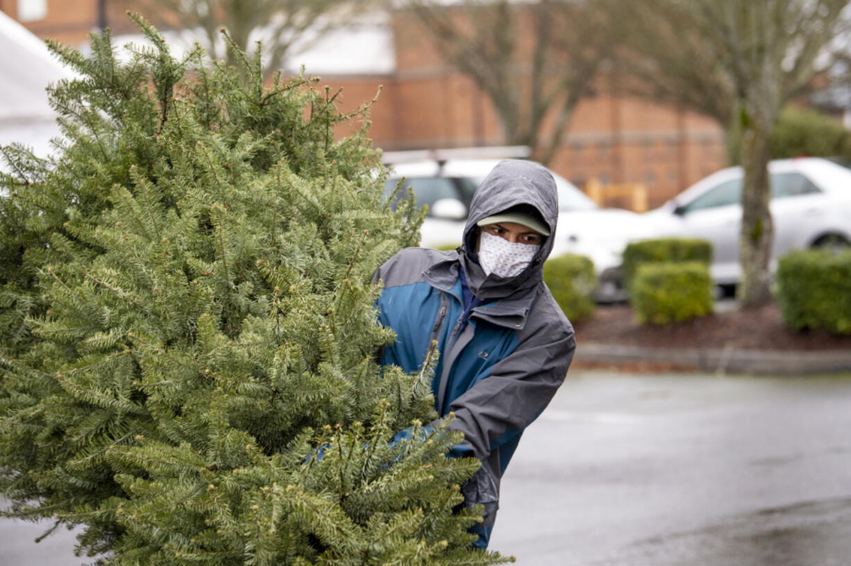
[[638, 320], [654, 325], [711, 314], [712, 280], [702, 262], [644, 263], [630, 289]]

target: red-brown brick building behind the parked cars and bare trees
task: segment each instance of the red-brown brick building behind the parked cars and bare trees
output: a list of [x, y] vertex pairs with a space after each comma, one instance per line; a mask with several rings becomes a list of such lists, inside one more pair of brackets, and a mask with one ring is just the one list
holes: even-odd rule
[[[84, 44], [89, 31], [103, 25], [117, 32], [129, 28], [114, 0], [0, 0], [0, 11], [38, 37], [71, 45]], [[371, 59], [365, 65], [346, 59], [363, 48], [340, 45], [342, 40], [334, 46], [340, 54], [336, 65], [334, 54], [314, 59], [313, 65], [311, 54], [294, 58], [304, 59], [306, 71], [322, 76], [323, 83], [343, 88], [340, 99], [346, 110], [373, 99], [382, 87], [370, 113], [374, 144], [384, 150], [415, 150], [505, 143], [488, 99], [469, 78], [443, 63], [409, 20], [394, 14], [375, 25], [368, 41], [378, 42], [373, 48], [377, 45], [381, 52], [364, 54]], [[603, 75], [593, 93], [581, 99], [550, 164], [553, 170], [579, 186], [591, 178], [603, 184], [643, 183], [652, 207], [726, 164], [716, 122], [618, 95], [618, 87], [617, 76]]]

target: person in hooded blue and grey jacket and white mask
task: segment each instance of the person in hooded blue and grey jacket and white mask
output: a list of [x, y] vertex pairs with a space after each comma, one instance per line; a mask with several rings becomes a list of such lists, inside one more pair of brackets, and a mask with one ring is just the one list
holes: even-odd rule
[[435, 407], [441, 418], [454, 414], [449, 429], [464, 433], [450, 454], [482, 462], [462, 487], [466, 506], [484, 507], [475, 528], [480, 548], [523, 430], [549, 404], [574, 355], [573, 326], [543, 281], [557, 215], [545, 167], [500, 161], [473, 195], [457, 250], [405, 248], [374, 276], [384, 286], [380, 322], [397, 336], [381, 363], [420, 371], [437, 343]]

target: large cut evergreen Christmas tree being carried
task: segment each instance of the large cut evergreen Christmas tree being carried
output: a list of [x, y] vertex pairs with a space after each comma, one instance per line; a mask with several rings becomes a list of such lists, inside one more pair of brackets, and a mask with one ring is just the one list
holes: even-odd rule
[[[485, 564], [433, 359], [380, 368], [374, 270], [413, 245], [367, 122], [304, 76], [153, 47], [51, 99], [66, 141], [3, 148], [0, 490], [111, 564]], [[437, 356], [432, 353], [431, 357]], [[411, 439], [393, 442], [411, 429]]]

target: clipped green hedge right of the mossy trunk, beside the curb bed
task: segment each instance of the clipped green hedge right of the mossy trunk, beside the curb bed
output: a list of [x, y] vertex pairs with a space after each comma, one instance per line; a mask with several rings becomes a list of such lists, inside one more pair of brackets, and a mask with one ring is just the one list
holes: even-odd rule
[[786, 254], [778, 264], [777, 289], [789, 327], [851, 334], [851, 251]]

